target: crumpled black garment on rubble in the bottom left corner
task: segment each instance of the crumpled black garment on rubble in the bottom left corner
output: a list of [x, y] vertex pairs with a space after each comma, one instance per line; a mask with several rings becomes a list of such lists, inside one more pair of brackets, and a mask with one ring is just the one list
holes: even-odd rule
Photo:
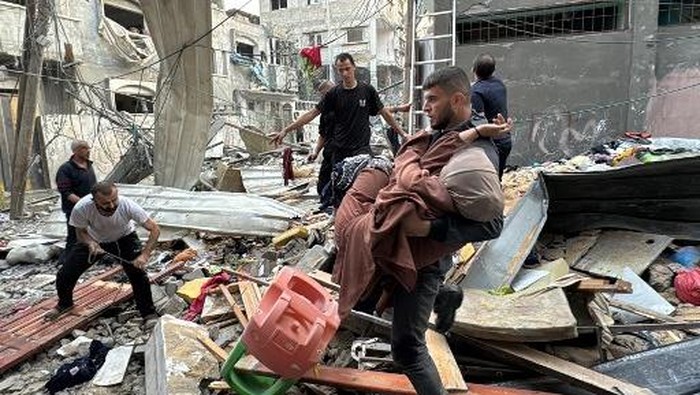
[[90, 381], [105, 363], [109, 347], [98, 340], [90, 343], [90, 355], [61, 365], [46, 383], [50, 394]]

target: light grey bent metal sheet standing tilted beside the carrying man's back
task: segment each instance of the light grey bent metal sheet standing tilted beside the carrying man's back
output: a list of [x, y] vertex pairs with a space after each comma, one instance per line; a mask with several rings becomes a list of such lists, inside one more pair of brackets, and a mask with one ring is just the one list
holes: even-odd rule
[[497, 289], [510, 285], [547, 220], [547, 192], [538, 179], [506, 217], [501, 235], [482, 245], [472, 259], [462, 288]]

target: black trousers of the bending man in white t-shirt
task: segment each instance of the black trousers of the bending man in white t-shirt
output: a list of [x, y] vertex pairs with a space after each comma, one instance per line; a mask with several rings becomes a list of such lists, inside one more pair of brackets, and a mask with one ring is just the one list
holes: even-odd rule
[[[141, 253], [141, 241], [136, 232], [130, 233], [112, 243], [101, 243], [103, 250], [132, 261]], [[58, 307], [67, 308], [73, 305], [73, 289], [80, 276], [92, 266], [90, 251], [87, 244], [76, 243], [68, 251], [63, 266], [56, 276], [56, 290], [58, 292]], [[95, 258], [93, 258], [95, 259]], [[121, 262], [120, 262], [121, 263]], [[136, 268], [132, 264], [121, 263], [124, 273], [129, 278], [134, 290], [136, 307], [142, 317], [155, 313], [151, 284], [145, 271]]]

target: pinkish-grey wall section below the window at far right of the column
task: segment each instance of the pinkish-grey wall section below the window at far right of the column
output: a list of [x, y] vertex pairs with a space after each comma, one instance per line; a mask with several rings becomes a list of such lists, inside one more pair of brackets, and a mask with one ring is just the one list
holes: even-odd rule
[[[656, 84], [647, 109], [654, 135], [700, 138], [700, 25], [661, 27]], [[669, 93], [672, 92], [672, 93]]]

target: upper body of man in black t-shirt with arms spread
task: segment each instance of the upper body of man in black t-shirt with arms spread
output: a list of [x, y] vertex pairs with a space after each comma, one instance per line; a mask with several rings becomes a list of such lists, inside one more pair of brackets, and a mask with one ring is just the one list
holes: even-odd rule
[[330, 144], [333, 166], [345, 158], [371, 153], [370, 116], [381, 115], [394, 130], [406, 137], [406, 132], [391, 116], [391, 110], [384, 107], [377, 90], [372, 85], [357, 81], [352, 55], [341, 53], [336, 56], [335, 68], [343, 79], [342, 84], [333, 87], [316, 107], [275, 134], [272, 142], [281, 144], [291, 130], [300, 128], [327, 112], [334, 114], [333, 141]]

